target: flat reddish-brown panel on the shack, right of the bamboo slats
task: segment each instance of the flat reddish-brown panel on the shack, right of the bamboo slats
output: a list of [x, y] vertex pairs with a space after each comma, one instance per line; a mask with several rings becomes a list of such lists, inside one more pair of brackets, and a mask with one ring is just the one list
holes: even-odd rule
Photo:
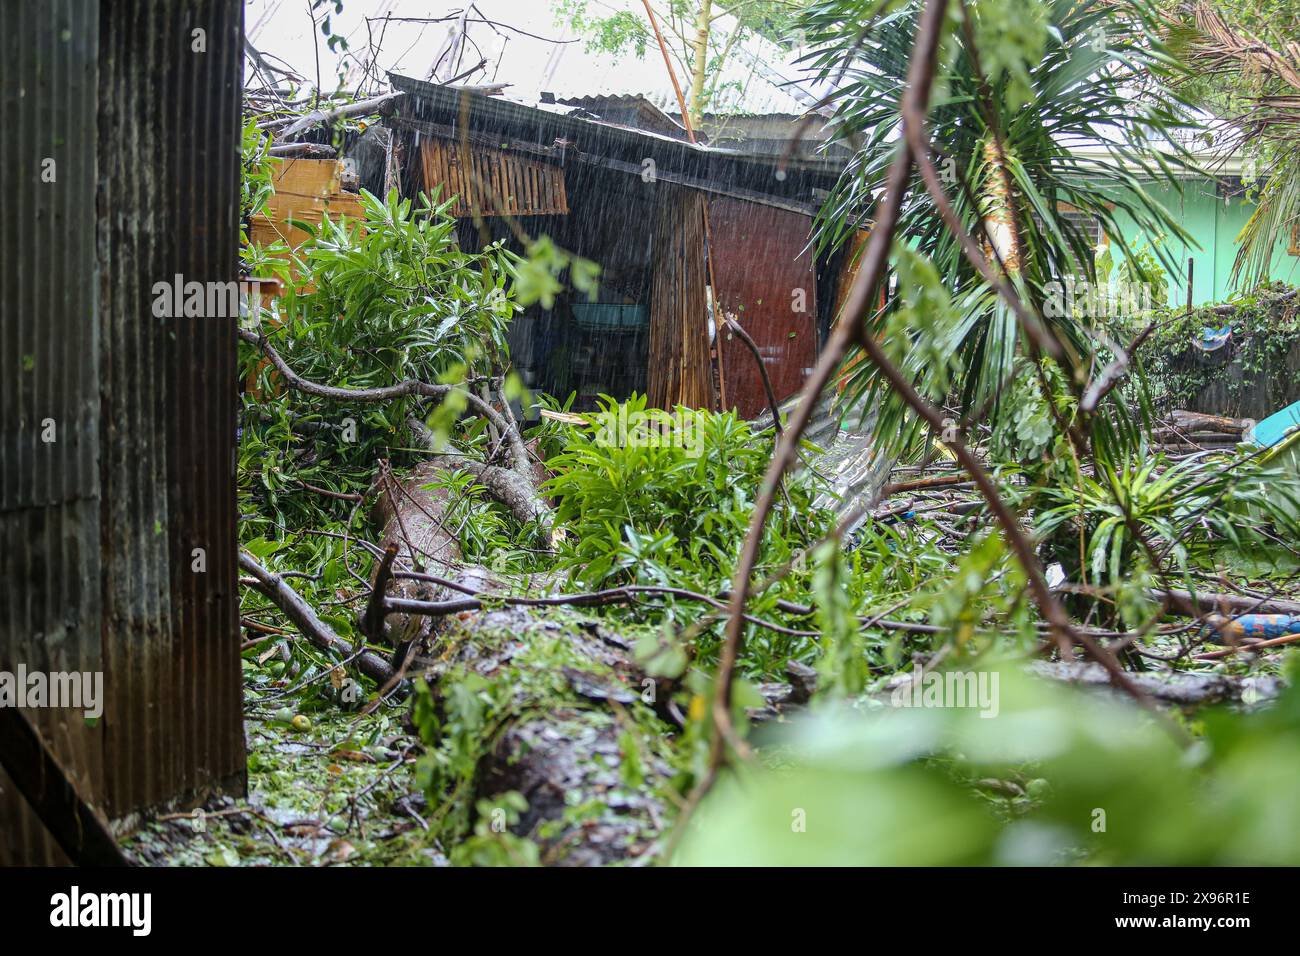
[[[816, 362], [816, 272], [806, 248], [811, 220], [729, 198], [710, 200], [708, 219], [719, 310], [754, 339], [783, 402]], [[727, 403], [753, 418], [767, 407], [754, 355], [725, 329], [719, 338]]]

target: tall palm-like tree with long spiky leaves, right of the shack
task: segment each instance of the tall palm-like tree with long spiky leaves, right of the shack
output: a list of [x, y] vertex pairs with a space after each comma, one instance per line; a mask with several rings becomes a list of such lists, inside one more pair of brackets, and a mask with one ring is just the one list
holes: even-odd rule
[[[818, 222], [822, 251], [870, 228], [885, 170], [901, 148], [898, 101], [919, 5], [879, 0], [815, 0], [803, 27], [815, 52], [809, 60], [832, 86], [832, 142], [846, 143], [852, 160], [827, 198]], [[1053, 308], [1053, 284], [1097, 281], [1093, 242], [1083, 222], [1110, 237], [1112, 255], [1148, 274], [1121, 238], [1126, 216], [1148, 235], [1188, 238], [1144, 189], [1190, 163], [1176, 134], [1186, 104], [1170, 92], [1179, 65], [1161, 47], [1157, 20], [1141, 0], [967, 0], [954, 9], [939, 68], [928, 137], [936, 166], [966, 230], [996, 258], [1030, 310], [1062, 347], [1063, 372], [1079, 388], [1095, 354], [1095, 323], [1074, 310]], [[863, 23], [867, 26], [863, 26]], [[1089, 146], [1088, 159], [1071, 147]], [[1071, 211], [1071, 216], [1065, 212]], [[1080, 215], [1082, 213], [1082, 215]], [[1009, 385], [1036, 358], [1017, 321], [966, 261], [924, 190], [913, 183], [904, 202], [900, 242], [933, 264], [952, 299], [890, 297], [874, 333], [896, 342], [904, 369], [933, 401], [956, 394], [963, 408], [1006, 414]], [[1118, 255], [1117, 255], [1118, 254]], [[911, 255], [910, 252], [906, 255]], [[1171, 268], [1167, 263], [1166, 268]], [[905, 269], [915, 273], [915, 268]], [[924, 336], [898, 321], [926, 323], [939, 347], [909, 347]], [[937, 324], [936, 324], [937, 323]], [[950, 356], [950, 364], [935, 356]], [[876, 414], [881, 444], [898, 451], [916, 437], [901, 402], [870, 363], [852, 364], [845, 398], [863, 418]]]

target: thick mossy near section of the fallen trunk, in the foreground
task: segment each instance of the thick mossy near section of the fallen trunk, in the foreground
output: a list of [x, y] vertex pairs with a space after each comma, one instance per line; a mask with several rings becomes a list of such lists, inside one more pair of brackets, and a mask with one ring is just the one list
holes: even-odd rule
[[421, 728], [437, 765], [465, 747], [458, 701], [469, 692], [491, 704], [471, 744], [472, 773], [436, 780], [436, 813], [458, 821], [464, 836], [484, 808], [519, 793], [528, 806], [510, 832], [532, 840], [541, 862], [651, 860], [670, 822], [670, 728], [654, 713], [658, 685], [634, 663], [632, 643], [559, 609], [524, 607], [456, 618], [441, 640], [441, 659], [420, 675], [445, 728]]

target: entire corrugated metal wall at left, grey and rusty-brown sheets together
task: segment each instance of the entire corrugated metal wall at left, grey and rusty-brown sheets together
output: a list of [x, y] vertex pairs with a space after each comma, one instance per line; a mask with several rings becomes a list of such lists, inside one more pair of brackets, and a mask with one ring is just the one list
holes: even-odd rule
[[238, 277], [242, 5], [17, 7], [40, 39], [6, 34], [0, 64], [0, 657], [103, 667], [100, 724], [49, 739], [120, 818], [243, 786], [237, 317], [153, 313], [156, 282]]

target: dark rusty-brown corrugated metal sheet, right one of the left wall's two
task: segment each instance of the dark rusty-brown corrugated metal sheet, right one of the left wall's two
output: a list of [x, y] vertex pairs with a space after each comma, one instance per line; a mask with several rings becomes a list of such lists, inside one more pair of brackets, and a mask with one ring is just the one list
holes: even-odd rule
[[[112, 0], [104, 10], [105, 784], [124, 814], [239, 786], [244, 773], [238, 319], [152, 311], [155, 284], [173, 276], [238, 278], [243, 10], [239, 0]], [[192, 570], [195, 549], [204, 572]]]

